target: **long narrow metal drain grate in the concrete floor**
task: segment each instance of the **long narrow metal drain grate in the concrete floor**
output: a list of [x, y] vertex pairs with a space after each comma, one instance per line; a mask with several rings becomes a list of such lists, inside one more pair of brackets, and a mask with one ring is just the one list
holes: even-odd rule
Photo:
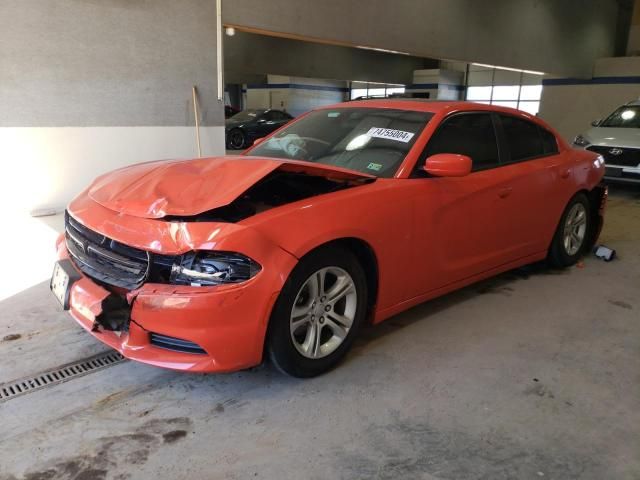
[[62, 365], [54, 370], [0, 384], [0, 402], [97, 372], [125, 360], [126, 358], [118, 352], [105, 352]]

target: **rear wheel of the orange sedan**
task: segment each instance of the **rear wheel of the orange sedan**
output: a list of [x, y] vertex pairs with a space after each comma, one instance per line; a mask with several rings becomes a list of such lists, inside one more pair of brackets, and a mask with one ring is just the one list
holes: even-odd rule
[[547, 261], [553, 267], [574, 265], [584, 254], [591, 234], [589, 199], [578, 193], [570, 201], [551, 241]]

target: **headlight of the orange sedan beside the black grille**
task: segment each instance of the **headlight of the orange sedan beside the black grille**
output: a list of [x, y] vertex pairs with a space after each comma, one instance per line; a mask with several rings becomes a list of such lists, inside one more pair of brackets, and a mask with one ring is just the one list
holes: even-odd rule
[[171, 268], [171, 283], [205, 287], [240, 283], [253, 278], [261, 267], [240, 253], [193, 252]]

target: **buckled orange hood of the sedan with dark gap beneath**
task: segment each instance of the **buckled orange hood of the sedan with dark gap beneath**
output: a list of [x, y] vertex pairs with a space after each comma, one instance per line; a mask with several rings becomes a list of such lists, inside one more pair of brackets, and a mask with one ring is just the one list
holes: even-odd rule
[[[199, 158], [116, 170], [94, 181], [86, 195], [108, 210], [131, 217], [238, 221], [259, 213], [261, 207], [283, 205], [375, 179], [309, 162], [262, 157]], [[202, 216], [231, 205], [227, 209], [231, 214], [221, 210], [218, 215]]]

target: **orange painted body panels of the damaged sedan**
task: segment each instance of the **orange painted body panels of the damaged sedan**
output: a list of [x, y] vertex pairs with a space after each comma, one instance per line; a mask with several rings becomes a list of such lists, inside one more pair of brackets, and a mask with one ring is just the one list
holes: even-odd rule
[[[341, 168], [251, 157], [151, 162], [97, 179], [69, 205], [78, 222], [123, 244], [164, 255], [193, 250], [238, 252], [260, 264], [252, 279], [192, 287], [147, 283], [129, 292], [128, 332], [91, 332], [126, 357], [188, 371], [232, 371], [261, 362], [271, 309], [300, 258], [337, 239], [357, 239], [376, 259], [373, 321], [532, 261], [545, 258], [573, 195], [601, 181], [604, 166], [557, 134], [559, 153], [466, 176], [413, 178], [429, 138], [448, 115], [496, 111], [548, 125], [526, 113], [466, 102], [372, 100], [340, 108], [433, 112], [394, 178], [288, 203], [237, 223], [167, 222], [228, 205], [276, 169], [367, 179]], [[336, 106], [333, 106], [335, 108]], [[555, 132], [554, 132], [555, 134]], [[441, 159], [443, 166], [447, 159]], [[67, 258], [64, 241], [59, 258]], [[88, 331], [109, 294], [85, 275], [71, 291], [71, 314]], [[149, 332], [189, 340], [206, 355], [173, 352]]]

